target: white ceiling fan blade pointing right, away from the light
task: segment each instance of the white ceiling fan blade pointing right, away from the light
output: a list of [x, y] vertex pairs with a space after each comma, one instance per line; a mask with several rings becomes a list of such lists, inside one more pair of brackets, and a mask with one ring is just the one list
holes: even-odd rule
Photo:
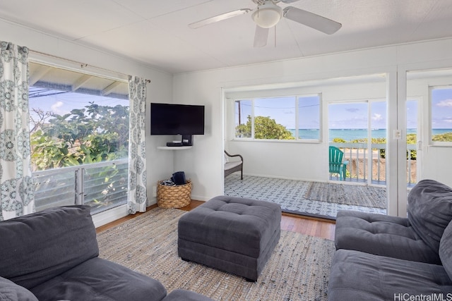
[[342, 27], [342, 24], [336, 21], [316, 15], [315, 13], [309, 13], [309, 11], [304, 11], [293, 6], [284, 8], [283, 16], [292, 21], [312, 27], [315, 30], [324, 32], [327, 35], [337, 32], [340, 30], [340, 27]]

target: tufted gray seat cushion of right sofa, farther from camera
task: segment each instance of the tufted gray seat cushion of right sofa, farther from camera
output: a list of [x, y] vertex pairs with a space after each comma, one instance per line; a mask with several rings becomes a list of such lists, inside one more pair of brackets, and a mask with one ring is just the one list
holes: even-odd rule
[[339, 211], [335, 226], [336, 249], [441, 264], [434, 252], [414, 231], [408, 219], [359, 211]]

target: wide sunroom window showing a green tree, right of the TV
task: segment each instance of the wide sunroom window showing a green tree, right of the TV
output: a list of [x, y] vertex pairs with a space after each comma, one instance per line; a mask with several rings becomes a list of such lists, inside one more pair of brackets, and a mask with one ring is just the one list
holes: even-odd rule
[[234, 107], [236, 138], [320, 140], [320, 94], [240, 99]]

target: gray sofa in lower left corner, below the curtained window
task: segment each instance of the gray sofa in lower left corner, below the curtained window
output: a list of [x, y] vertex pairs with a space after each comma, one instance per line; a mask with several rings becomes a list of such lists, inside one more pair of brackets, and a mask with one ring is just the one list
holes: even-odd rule
[[210, 300], [98, 257], [89, 206], [0, 222], [0, 300]]

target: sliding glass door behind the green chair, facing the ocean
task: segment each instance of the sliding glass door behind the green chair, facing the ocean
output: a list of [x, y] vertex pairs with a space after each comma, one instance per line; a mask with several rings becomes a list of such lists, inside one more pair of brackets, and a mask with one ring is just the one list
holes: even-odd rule
[[348, 161], [346, 181], [386, 185], [386, 100], [329, 103], [328, 135]]

